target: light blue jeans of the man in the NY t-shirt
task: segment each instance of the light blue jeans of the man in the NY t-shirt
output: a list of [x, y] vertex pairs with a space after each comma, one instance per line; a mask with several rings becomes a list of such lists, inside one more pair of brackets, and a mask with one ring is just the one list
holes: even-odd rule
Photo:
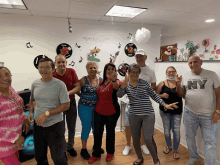
[[184, 111], [183, 122], [190, 158], [199, 161], [195, 137], [200, 127], [205, 145], [205, 165], [216, 165], [218, 122], [213, 124], [211, 116], [197, 115], [187, 108]]

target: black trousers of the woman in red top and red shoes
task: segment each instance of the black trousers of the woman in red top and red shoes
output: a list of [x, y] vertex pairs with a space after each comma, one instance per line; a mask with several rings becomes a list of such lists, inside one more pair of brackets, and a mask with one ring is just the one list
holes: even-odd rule
[[120, 116], [120, 111], [116, 110], [113, 115], [105, 116], [97, 112], [94, 114], [94, 157], [101, 157], [102, 136], [104, 125], [106, 126], [106, 151], [107, 154], [115, 153], [115, 127]]

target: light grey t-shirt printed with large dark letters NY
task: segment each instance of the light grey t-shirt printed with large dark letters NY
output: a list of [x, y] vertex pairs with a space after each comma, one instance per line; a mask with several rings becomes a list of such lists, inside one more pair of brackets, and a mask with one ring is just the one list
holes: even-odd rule
[[219, 77], [213, 71], [202, 69], [199, 75], [188, 72], [182, 81], [186, 89], [185, 107], [197, 115], [211, 116], [215, 110], [214, 88], [219, 86]]

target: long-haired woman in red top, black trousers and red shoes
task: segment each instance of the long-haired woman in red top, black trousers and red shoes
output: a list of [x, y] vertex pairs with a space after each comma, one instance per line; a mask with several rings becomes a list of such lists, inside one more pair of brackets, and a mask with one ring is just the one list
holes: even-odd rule
[[115, 127], [120, 115], [116, 91], [120, 87], [117, 80], [116, 67], [108, 63], [104, 67], [103, 81], [97, 89], [99, 100], [94, 114], [94, 151], [88, 163], [94, 163], [101, 157], [102, 135], [106, 125], [106, 161], [114, 158], [115, 152]]

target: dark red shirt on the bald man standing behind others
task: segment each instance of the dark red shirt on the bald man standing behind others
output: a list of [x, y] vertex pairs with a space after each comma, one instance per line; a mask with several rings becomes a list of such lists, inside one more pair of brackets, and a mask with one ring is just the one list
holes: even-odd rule
[[[53, 77], [63, 81], [66, 84], [68, 91], [72, 90], [75, 86], [74, 84], [79, 82], [76, 71], [72, 68], [66, 68], [66, 73], [63, 76], [60, 76], [55, 71]], [[75, 95], [69, 95], [70, 100], [75, 99]]]

